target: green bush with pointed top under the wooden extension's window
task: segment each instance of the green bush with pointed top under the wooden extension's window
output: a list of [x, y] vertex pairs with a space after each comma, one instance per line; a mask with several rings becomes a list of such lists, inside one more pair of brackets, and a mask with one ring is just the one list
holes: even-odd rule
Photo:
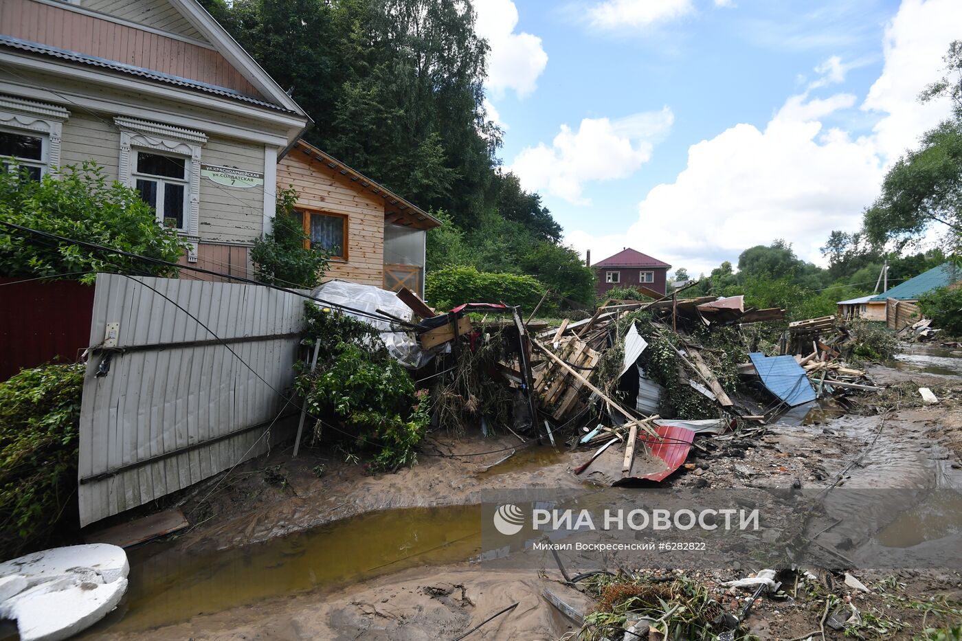
[[277, 192], [273, 229], [254, 241], [250, 258], [262, 283], [313, 290], [327, 271], [330, 253], [304, 246], [304, 226], [294, 216], [296, 201], [293, 188]]

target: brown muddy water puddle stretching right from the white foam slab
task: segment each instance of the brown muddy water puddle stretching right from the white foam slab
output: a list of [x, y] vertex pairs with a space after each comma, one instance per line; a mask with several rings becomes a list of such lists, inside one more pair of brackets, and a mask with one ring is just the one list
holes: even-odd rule
[[120, 606], [90, 628], [142, 632], [198, 614], [331, 588], [418, 565], [463, 561], [480, 549], [476, 505], [387, 510], [229, 551], [131, 552]]

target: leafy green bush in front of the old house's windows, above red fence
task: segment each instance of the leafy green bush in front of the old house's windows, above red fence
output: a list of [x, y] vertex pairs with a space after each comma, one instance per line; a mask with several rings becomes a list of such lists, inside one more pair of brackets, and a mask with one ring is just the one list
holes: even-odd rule
[[[0, 219], [65, 238], [176, 262], [186, 248], [157, 222], [139, 193], [108, 185], [93, 162], [52, 169], [39, 181], [0, 171]], [[176, 275], [177, 269], [0, 228], [0, 275], [56, 276], [93, 282], [93, 271]]]

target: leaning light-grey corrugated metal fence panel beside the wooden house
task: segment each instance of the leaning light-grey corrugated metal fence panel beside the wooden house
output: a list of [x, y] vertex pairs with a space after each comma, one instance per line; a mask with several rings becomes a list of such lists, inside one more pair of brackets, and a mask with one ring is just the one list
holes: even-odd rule
[[99, 274], [89, 345], [119, 327], [84, 379], [81, 525], [264, 453], [281, 422], [267, 425], [296, 409], [274, 390], [290, 393], [303, 304], [258, 285]]

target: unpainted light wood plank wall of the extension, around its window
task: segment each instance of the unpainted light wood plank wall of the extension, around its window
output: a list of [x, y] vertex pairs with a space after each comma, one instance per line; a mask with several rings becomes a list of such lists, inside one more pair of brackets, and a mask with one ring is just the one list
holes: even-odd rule
[[297, 205], [347, 215], [347, 261], [332, 260], [326, 275], [355, 283], [384, 284], [384, 202], [305, 156], [296, 147], [277, 166], [277, 188], [293, 186]]

